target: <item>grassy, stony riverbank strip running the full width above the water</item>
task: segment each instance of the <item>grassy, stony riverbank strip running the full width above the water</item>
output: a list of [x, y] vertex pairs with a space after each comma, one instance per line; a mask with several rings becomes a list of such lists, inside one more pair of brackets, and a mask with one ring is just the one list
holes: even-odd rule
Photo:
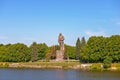
[[112, 63], [111, 67], [108, 69], [104, 69], [102, 63], [81, 64], [80, 62], [20, 62], [20, 63], [0, 62], [0, 67], [120, 71], [120, 63]]

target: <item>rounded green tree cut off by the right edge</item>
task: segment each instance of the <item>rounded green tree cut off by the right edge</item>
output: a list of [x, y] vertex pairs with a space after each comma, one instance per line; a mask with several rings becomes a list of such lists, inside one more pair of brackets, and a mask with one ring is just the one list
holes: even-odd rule
[[107, 39], [107, 55], [113, 59], [113, 62], [120, 62], [120, 36], [113, 35]]

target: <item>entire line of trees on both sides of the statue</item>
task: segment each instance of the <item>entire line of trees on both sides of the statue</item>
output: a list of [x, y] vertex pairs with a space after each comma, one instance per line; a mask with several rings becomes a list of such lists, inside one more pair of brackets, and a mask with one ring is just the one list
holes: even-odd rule
[[[33, 42], [30, 46], [23, 43], [0, 44], [0, 62], [29, 62], [56, 58], [58, 45], [47, 46]], [[120, 35], [111, 37], [92, 36], [85, 40], [78, 38], [76, 46], [65, 44], [64, 59], [76, 59], [83, 63], [120, 62]]]

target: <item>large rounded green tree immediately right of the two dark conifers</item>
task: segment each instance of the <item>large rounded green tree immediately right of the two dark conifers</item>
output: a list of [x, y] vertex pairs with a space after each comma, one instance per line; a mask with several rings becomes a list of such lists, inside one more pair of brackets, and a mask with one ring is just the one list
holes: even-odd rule
[[[102, 36], [92, 36], [89, 38], [86, 48], [83, 48], [81, 53], [86, 52], [88, 54], [88, 62], [102, 62], [104, 57], [102, 57], [104, 54], [105, 49], [105, 42], [106, 39]], [[84, 54], [86, 54], [84, 53]]]

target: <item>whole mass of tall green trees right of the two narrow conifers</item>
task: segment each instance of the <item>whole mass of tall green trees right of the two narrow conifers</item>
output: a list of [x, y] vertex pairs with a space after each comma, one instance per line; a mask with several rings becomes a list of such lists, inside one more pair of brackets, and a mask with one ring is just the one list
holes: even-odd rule
[[111, 62], [120, 62], [120, 35], [92, 36], [81, 49], [82, 62], [108, 62], [109, 59]]

